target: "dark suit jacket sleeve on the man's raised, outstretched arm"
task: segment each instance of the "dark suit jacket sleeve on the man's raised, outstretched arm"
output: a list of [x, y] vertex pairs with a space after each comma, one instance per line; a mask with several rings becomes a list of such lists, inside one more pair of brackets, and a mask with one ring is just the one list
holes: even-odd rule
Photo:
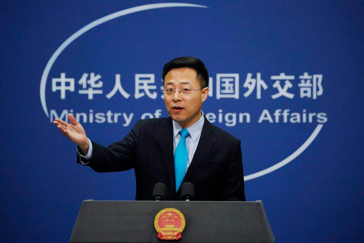
[[[138, 121], [127, 136], [120, 141], [110, 144], [107, 148], [92, 142], [92, 157], [86, 164], [96, 172], [126, 171], [134, 168], [135, 154], [139, 144], [140, 121]], [[77, 156], [77, 162], [84, 158]]]

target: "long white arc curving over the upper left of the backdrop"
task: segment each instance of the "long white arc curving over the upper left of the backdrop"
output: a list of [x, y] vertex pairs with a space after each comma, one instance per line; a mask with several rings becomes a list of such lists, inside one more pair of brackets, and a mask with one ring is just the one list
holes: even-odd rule
[[115, 18], [123, 16], [123, 15], [130, 14], [130, 13], [135, 13], [135, 12], [140, 12], [140, 11], [155, 9], [155, 8], [170, 8], [170, 7], [207, 8], [207, 6], [204, 6], [204, 5], [190, 4], [190, 3], [154, 3], [154, 4], [141, 5], [138, 7], [128, 8], [128, 9], [124, 9], [124, 10], [121, 10], [121, 11], [118, 11], [115, 13], [111, 13], [110, 15], [107, 15], [98, 20], [95, 20], [95, 21], [91, 22], [90, 24], [87, 24], [87, 26], [84, 26], [83, 28], [81, 28], [80, 30], [75, 32], [75, 34], [71, 35], [66, 41], [64, 41], [62, 43], [62, 45], [60, 45], [58, 47], [58, 49], [54, 52], [54, 54], [49, 59], [47, 65], [46, 65], [46, 68], [44, 68], [42, 78], [40, 81], [40, 102], [42, 104], [43, 110], [46, 113], [47, 117], [49, 117], [48, 110], [47, 110], [47, 104], [46, 104], [46, 83], [47, 83], [48, 74], [49, 74], [51, 67], [53, 66], [53, 63], [55, 62], [55, 60], [58, 58], [58, 56], [61, 54], [61, 52], [69, 44], [71, 44], [75, 39], [77, 39], [83, 33], [91, 30], [92, 28], [94, 28], [95, 26], [98, 26], [99, 24], [105, 23], [106, 21], [115, 19]]

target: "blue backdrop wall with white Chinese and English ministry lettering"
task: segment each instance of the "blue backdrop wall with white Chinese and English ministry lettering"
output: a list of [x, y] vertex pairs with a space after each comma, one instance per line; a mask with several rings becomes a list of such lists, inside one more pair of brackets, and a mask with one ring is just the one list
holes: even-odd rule
[[83, 200], [134, 200], [134, 171], [76, 164], [51, 121], [120, 140], [168, 115], [161, 71], [183, 55], [209, 69], [202, 110], [242, 141], [276, 242], [362, 241], [363, 1], [158, 3], [1, 4], [0, 241], [67, 242]]

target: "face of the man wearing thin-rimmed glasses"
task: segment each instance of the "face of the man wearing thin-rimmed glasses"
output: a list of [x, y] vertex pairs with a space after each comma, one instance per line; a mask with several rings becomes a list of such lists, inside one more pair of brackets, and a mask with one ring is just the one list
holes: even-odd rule
[[[173, 95], [164, 95], [166, 108], [172, 119], [183, 128], [188, 128], [201, 118], [202, 102], [209, 94], [209, 88], [201, 88], [196, 70], [188, 67], [173, 68], [164, 79], [165, 89], [176, 90]], [[189, 95], [181, 95], [179, 89], [200, 89]]]

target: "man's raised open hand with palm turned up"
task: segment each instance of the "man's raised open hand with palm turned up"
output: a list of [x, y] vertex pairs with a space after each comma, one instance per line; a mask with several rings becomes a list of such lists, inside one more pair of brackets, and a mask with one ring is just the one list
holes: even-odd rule
[[67, 123], [56, 118], [54, 119], [53, 124], [57, 126], [64, 136], [68, 137], [69, 140], [77, 144], [82, 150], [83, 154], [86, 155], [89, 144], [85, 130], [71, 113], [68, 114], [68, 119], [71, 123]]

